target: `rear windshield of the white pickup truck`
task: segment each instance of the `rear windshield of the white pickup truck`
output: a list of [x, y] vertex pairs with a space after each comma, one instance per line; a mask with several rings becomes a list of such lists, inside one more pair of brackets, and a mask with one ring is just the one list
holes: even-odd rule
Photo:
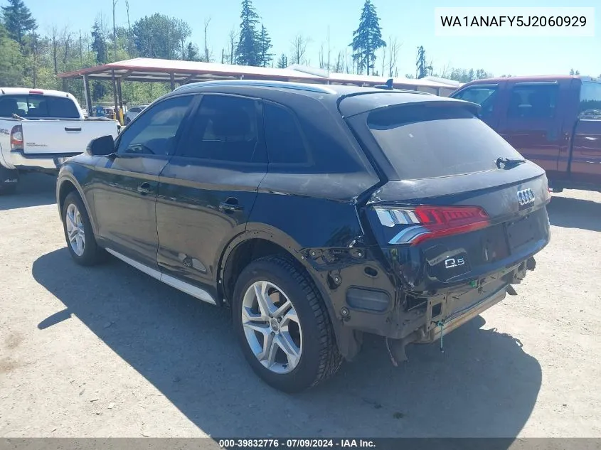
[[2, 95], [0, 96], [0, 117], [13, 114], [25, 118], [79, 119], [80, 112], [75, 102], [67, 97], [48, 95]]

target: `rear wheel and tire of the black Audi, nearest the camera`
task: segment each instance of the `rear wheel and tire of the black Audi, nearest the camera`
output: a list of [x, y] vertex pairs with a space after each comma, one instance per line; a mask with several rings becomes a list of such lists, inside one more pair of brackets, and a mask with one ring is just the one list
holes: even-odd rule
[[[261, 292], [269, 314], [259, 305]], [[321, 294], [286, 257], [263, 257], [245, 267], [235, 285], [233, 323], [252, 370], [278, 390], [315, 386], [342, 363]]]

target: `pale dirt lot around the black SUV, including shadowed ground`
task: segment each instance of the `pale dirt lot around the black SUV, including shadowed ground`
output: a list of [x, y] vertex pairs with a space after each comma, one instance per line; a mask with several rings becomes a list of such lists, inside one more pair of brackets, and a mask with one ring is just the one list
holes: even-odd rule
[[0, 436], [601, 436], [601, 194], [555, 195], [508, 297], [393, 368], [369, 339], [301, 395], [243, 360], [228, 314], [68, 255], [53, 179], [0, 198]]

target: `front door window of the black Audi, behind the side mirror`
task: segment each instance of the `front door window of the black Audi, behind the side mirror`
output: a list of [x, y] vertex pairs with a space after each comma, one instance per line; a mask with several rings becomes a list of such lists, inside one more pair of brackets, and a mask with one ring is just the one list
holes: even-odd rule
[[175, 135], [192, 98], [191, 95], [172, 97], [148, 109], [124, 130], [117, 153], [173, 154]]

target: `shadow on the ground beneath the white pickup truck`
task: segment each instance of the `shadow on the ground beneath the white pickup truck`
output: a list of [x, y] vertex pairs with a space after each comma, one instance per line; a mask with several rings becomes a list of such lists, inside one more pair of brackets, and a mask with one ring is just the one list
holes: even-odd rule
[[16, 193], [0, 195], [0, 211], [56, 203], [56, 177], [46, 173], [21, 175]]

